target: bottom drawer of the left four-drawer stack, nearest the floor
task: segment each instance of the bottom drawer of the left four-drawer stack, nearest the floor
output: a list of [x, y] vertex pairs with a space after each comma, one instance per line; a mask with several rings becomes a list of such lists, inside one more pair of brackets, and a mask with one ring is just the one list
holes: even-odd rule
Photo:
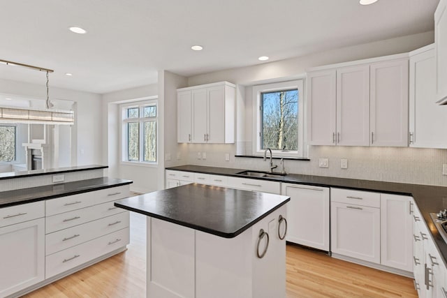
[[129, 228], [73, 246], [45, 258], [45, 278], [89, 262], [129, 244]]

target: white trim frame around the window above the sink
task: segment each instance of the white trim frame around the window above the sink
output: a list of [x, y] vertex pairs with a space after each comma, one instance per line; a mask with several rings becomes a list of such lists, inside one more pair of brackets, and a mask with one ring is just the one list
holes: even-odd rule
[[263, 156], [264, 150], [261, 149], [261, 93], [279, 91], [284, 89], [298, 89], [298, 151], [281, 151], [272, 150], [272, 155], [275, 157], [289, 157], [302, 158], [305, 157], [305, 128], [304, 121], [304, 107], [305, 107], [305, 92], [303, 80], [293, 80], [288, 82], [277, 82], [270, 84], [256, 85], [253, 87], [253, 155]]

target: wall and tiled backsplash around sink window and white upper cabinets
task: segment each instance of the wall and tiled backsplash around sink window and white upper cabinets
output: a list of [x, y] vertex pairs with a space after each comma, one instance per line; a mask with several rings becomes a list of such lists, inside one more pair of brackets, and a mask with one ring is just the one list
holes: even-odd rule
[[[189, 77], [189, 86], [226, 80], [245, 85], [245, 90], [237, 94], [237, 143], [188, 144], [187, 164], [268, 170], [268, 163], [262, 159], [235, 158], [236, 153], [251, 153], [253, 115], [251, 85], [302, 77], [307, 68], [315, 66], [409, 52], [433, 41], [434, 35], [431, 31], [305, 57]], [[207, 153], [205, 161], [196, 158], [198, 151]], [[230, 154], [230, 161], [225, 161], [226, 153]], [[285, 161], [286, 170], [297, 174], [447, 186], [447, 176], [441, 174], [442, 164], [447, 163], [445, 149], [310, 146], [309, 158], [311, 161]], [[318, 158], [329, 158], [329, 167], [318, 167]], [[341, 158], [349, 160], [348, 169], [340, 168]]]

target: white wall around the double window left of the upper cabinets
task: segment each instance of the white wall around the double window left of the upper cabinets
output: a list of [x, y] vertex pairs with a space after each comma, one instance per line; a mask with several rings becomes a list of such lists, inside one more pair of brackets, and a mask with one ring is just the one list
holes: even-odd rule
[[[119, 126], [119, 104], [142, 100], [148, 96], [157, 96], [158, 85], [150, 84], [142, 87], [115, 91], [102, 96], [103, 109], [103, 161], [109, 165], [108, 177], [129, 179], [133, 181], [131, 191], [149, 193], [157, 189], [157, 167], [144, 165], [128, 165], [121, 163]], [[159, 120], [160, 121], [160, 120]]]

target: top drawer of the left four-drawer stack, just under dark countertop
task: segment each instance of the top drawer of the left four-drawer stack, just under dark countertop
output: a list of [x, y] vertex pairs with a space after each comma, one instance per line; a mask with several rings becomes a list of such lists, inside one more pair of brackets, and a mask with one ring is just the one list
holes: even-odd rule
[[45, 202], [45, 211], [47, 216], [52, 216], [103, 202], [119, 200], [128, 196], [129, 185], [105, 188], [99, 191], [89, 191], [88, 193], [47, 200]]

